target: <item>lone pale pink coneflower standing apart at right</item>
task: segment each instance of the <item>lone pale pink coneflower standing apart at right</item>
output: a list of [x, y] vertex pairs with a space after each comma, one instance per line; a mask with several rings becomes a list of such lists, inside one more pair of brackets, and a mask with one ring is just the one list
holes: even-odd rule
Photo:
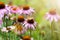
[[46, 13], [46, 19], [50, 22], [57, 22], [60, 19], [60, 16], [56, 13], [56, 9], [51, 9], [49, 12]]

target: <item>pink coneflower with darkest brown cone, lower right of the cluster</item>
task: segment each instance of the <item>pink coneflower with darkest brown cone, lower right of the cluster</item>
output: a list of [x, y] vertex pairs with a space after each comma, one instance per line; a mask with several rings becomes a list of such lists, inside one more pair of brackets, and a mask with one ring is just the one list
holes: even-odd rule
[[33, 18], [28, 18], [24, 24], [26, 29], [35, 29], [36, 27], [36, 22]]

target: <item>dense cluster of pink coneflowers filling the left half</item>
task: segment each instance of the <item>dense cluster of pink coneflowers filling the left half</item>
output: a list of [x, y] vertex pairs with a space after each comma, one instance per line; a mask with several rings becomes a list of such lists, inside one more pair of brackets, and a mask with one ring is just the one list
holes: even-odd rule
[[[25, 18], [23, 15], [32, 15], [34, 13], [34, 9], [28, 5], [25, 6], [15, 6], [11, 3], [5, 5], [3, 2], [0, 2], [0, 26], [3, 24], [3, 18], [10, 18], [10, 20], [14, 21], [13, 25], [7, 27], [1, 27], [2, 32], [10, 32], [14, 31], [17, 34], [24, 34], [28, 29], [35, 29], [36, 22], [34, 18], [28, 17]], [[18, 15], [18, 17], [12, 15]], [[6, 23], [8, 24], [8, 23]], [[26, 36], [26, 38], [30, 38]], [[30, 39], [29, 39], [30, 40]]]

